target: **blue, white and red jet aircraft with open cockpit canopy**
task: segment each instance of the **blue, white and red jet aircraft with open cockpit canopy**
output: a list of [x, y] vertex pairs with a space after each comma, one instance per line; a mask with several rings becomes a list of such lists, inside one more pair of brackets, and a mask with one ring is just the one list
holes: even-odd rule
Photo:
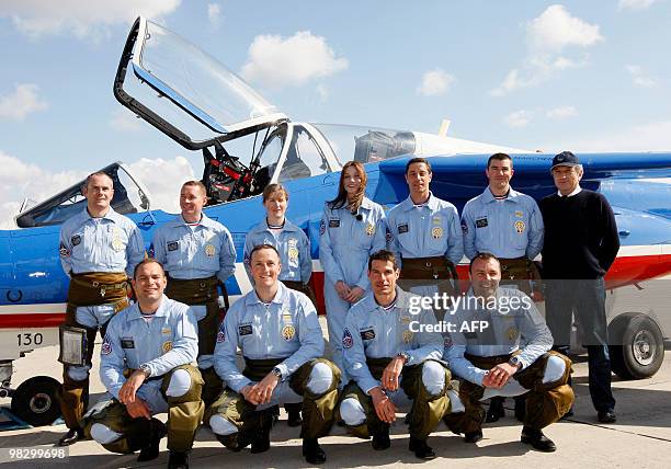
[[[418, 156], [433, 167], [432, 192], [459, 211], [486, 186], [487, 158], [498, 151], [513, 157], [516, 190], [536, 199], [555, 191], [553, 155], [419, 131], [293, 122], [215, 58], [144, 18], [130, 30], [113, 91], [147, 123], [202, 153], [205, 211], [228, 227], [238, 251], [236, 275], [226, 285], [232, 301], [251, 289], [242, 248], [246, 233], [264, 216], [260, 194], [269, 183], [288, 188], [288, 217], [311, 241], [311, 282], [321, 313], [319, 222], [344, 162], [365, 164], [367, 195], [386, 208], [407, 197], [405, 164]], [[628, 379], [651, 376], [663, 359], [663, 338], [671, 335], [671, 306], [648, 304], [653, 295], [668, 296], [655, 279], [671, 275], [671, 152], [580, 158], [582, 186], [609, 198], [622, 242], [606, 277], [614, 370]], [[114, 181], [113, 207], [139, 226], [148, 248], [156, 227], [173, 215], [152, 209], [148, 191], [122, 163], [103, 170]], [[13, 389], [13, 361], [58, 343], [69, 281], [58, 256], [59, 225], [84, 206], [76, 184], [19, 214], [15, 230], [0, 231], [0, 397], [12, 397], [12, 411], [33, 425], [58, 415], [58, 384], [36, 376]], [[458, 270], [467, 277], [466, 260]]]

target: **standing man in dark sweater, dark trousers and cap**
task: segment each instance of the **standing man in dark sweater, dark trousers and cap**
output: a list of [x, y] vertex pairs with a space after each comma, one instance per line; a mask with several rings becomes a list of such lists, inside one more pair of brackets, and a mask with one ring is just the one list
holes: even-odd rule
[[615, 216], [603, 195], [580, 187], [583, 170], [573, 153], [557, 155], [550, 171], [558, 192], [541, 201], [539, 206], [545, 224], [547, 325], [555, 347], [566, 352], [571, 317], [576, 316], [589, 355], [592, 403], [600, 422], [613, 423], [615, 399], [611, 390], [603, 277], [619, 249]]

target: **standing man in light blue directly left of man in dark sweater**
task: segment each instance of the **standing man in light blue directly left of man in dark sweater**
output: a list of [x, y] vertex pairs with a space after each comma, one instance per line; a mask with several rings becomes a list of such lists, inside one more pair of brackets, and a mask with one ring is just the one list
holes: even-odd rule
[[[533, 260], [543, 248], [543, 217], [536, 201], [510, 186], [514, 174], [510, 156], [494, 153], [487, 160], [489, 186], [471, 198], [462, 213], [464, 253], [470, 260], [478, 252], [491, 252], [501, 263], [501, 285], [515, 285], [532, 294], [531, 282], [539, 274]], [[487, 422], [503, 416], [503, 399], [493, 398]], [[523, 419], [524, 399], [515, 399], [515, 414]]]

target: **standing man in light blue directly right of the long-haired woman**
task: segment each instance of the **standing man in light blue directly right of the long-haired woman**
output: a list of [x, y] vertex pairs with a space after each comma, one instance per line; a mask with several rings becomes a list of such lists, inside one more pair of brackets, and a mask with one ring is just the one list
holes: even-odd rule
[[[413, 158], [406, 164], [410, 195], [389, 210], [390, 249], [401, 263], [400, 285], [420, 295], [454, 294], [455, 265], [464, 255], [456, 207], [429, 191], [431, 164]], [[417, 282], [419, 281], [419, 282]], [[437, 288], [436, 288], [437, 287]]]

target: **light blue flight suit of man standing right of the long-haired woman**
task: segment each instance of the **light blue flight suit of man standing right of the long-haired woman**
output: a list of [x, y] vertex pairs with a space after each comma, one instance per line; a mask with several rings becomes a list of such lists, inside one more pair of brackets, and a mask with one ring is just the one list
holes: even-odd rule
[[[419, 207], [408, 196], [389, 210], [387, 226], [391, 238], [389, 249], [401, 266], [403, 260], [421, 258], [445, 258], [456, 266], [464, 256], [457, 209], [433, 194]], [[412, 285], [410, 291], [418, 295], [431, 296], [437, 293], [436, 286], [422, 286], [421, 281], [403, 284], [408, 287]]]

